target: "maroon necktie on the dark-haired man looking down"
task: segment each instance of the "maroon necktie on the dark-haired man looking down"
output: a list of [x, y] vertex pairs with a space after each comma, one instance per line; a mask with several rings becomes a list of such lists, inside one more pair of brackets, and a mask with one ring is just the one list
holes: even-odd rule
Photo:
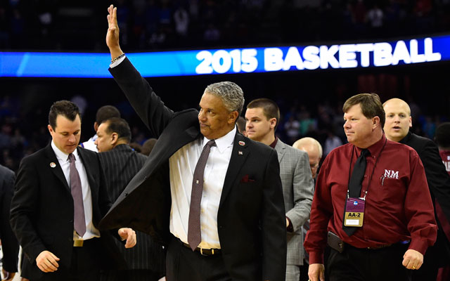
[[86, 221], [84, 220], [82, 181], [79, 179], [77, 167], [75, 166], [75, 155], [70, 153], [70, 192], [73, 197], [74, 227], [78, 235], [83, 237], [86, 233]]

